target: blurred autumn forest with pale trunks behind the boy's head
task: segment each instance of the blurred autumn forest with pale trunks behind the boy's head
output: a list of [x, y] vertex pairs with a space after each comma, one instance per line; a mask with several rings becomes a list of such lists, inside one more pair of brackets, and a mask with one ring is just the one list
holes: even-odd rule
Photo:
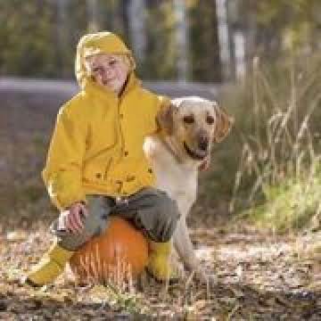
[[141, 78], [213, 82], [243, 75], [255, 55], [317, 51], [321, 1], [1, 0], [0, 23], [4, 75], [73, 78], [79, 37], [107, 29], [132, 48]]

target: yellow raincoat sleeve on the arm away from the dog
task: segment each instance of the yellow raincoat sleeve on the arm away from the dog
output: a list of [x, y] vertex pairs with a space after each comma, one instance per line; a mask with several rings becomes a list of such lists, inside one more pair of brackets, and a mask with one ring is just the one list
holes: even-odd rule
[[[42, 177], [53, 204], [59, 209], [73, 202], [86, 202], [81, 169], [86, 150], [86, 123], [79, 112], [70, 112], [70, 103], [59, 112]], [[76, 106], [78, 107], [78, 106]]]

